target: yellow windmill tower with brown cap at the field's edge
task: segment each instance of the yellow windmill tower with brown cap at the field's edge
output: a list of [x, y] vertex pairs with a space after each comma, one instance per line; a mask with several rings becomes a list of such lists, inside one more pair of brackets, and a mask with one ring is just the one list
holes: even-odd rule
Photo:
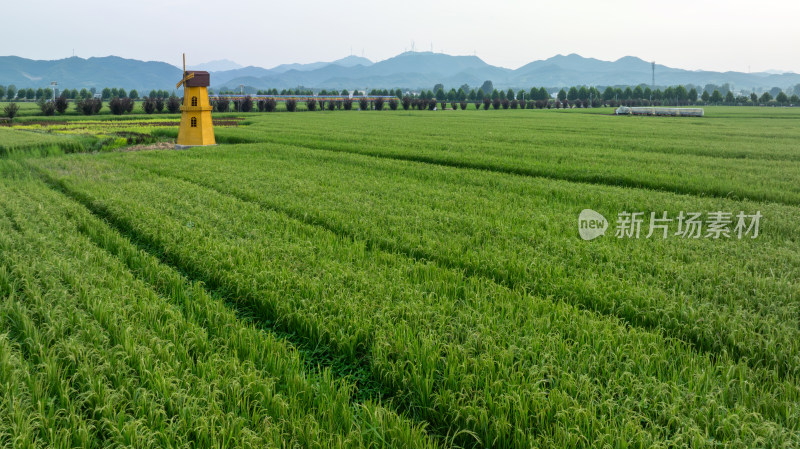
[[183, 55], [183, 79], [176, 87], [183, 85], [183, 106], [181, 106], [181, 127], [178, 129], [176, 148], [200, 145], [216, 145], [214, 125], [211, 122], [211, 103], [208, 101], [208, 72], [186, 71], [186, 54]]

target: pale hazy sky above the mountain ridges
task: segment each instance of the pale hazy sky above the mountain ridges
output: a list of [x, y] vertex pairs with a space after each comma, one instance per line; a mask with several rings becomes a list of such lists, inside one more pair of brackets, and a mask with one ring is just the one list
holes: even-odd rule
[[373, 61], [411, 49], [517, 68], [555, 54], [686, 69], [800, 73], [800, 1], [9, 0], [0, 55], [180, 65]]

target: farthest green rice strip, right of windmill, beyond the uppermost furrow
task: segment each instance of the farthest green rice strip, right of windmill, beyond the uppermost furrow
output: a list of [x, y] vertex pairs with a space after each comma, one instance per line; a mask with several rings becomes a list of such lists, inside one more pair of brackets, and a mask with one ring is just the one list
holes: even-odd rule
[[[723, 129], [706, 135], [709, 130], [702, 125], [707, 124], [695, 128], [673, 121], [675, 126], [668, 127], [651, 117], [631, 121], [603, 117], [587, 125], [581, 115], [511, 120], [481, 118], [477, 113], [437, 120], [328, 116], [316, 119], [311, 128], [302, 120], [276, 117], [219, 136], [222, 141], [230, 136], [229, 141], [237, 142], [284, 143], [529, 176], [800, 204], [796, 136], [769, 137], [753, 127], [744, 131], [745, 136], [735, 132], [726, 138], [716, 134]], [[353, 129], [359, 132], [354, 134]], [[765, 138], [774, 144], [765, 145]]]

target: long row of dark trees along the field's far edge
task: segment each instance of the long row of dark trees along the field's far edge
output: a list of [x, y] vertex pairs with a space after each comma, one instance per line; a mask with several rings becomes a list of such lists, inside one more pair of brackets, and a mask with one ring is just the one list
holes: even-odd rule
[[[687, 88], [688, 87], [688, 88]], [[698, 92], [701, 91], [702, 93]], [[210, 92], [213, 92], [209, 90]], [[236, 94], [237, 92], [223, 88], [220, 94]], [[433, 89], [422, 89], [419, 91], [409, 91], [403, 89], [354, 89], [352, 93], [347, 89], [343, 90], [313, 90], [304, 87], [296, 89], [266, 89], [259, 90], [258, 95], [320, 95], [320, 96], [339, 96], [345, 97], [340, 100], [327, 100], [325, 98], [312, 98], [305, 101], [307, 110], [351, 110], [354, 105], [358, 109], [381, 110], [384, 107], [396, 110], [399, 108], [408, 109], [446, 109], [449, 105], [452, 109], [466, 109], [472, 104], [476, 109], [551, 109], [551, 108], [574, 108], [574, 107], [600, 107], [600, 106], [684, 106], [684, 105], [766, 105], [766, 106], [787, 106], [800, 105], [800, 84], [793, 88], [783, 91], [780, 88], [772, 88], [763, 91], [761, 94], [751, 92], [738, 95], [728, 84], [716, 86], [708, 84], [703, 88], [698, 86], [669, 86], [664, 88], [651, 89], [647, 85], [605, 87], [602, 92], [594, 86], [571, 86], [569, 88], [553, 89], [545, 87], [532, 87], [528, 90], [498, 90], [494, 88], [491, 81], [487, 80], [479, 88], [471, 88], [464, 84], [458, 89], [451, 88], [445, 90], [442, 84], [437, 84]], [[383, 96], [393, 97], [390, 99], [368, 100], [365, 95], [370, 97]], [[37, 101], [43, 115], [63, 114], [69, 107], [69, 102], [74, 103], [75, 110], [81, 114], [97, 114], [103, 108], [103, 102], [108, 102], [108, 108], [113, 114], [130, 113], [135, 107], [136, 101], [141, 101], [142, 110], [146, 114], [161, 113], [166, 110], [169, 113], [178, 113], [182, 99], [178, 98], [175, 91], [151, 90], [150, 93], [140, 98], [139, 93], [132, 89], [127, 92], [123, 88], [103, 88], [97, 94], [95, 88], [91, 89], [64, 89], [59, 96], [53, 99], [53, 90], [47, 88], [22, 88], [17, 89], [13, 84], [9, 86], [0, 85], [0, 100], [8, 101]], [[287, 111], [297, 110], [296, 100], [283, 102]], [[212, 106], [216, 112], [250, 112], [258, 109], [262, 112], [277, 110], [277, 102], [274, 99], [253, 100], [251, 97], [242, 99], [228, 100], [216, 99], [212, 101]], [[4, 108], [6, 116], [13, 118], [18, 107], [8, 105]]]

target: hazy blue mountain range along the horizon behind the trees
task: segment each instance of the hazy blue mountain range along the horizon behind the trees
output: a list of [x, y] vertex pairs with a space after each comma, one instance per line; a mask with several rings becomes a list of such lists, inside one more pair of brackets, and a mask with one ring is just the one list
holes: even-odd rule
[[[214, 88], [237, 89], [246, 86], [252, 92], [268, 88], [431, 89], [468, 84], [478, 87], [491, 80], [497, 88], [532, 86], [566, 87], [574, 85], [617, 86], [651, 83], [651, 65], [642, 59], [626, 56], [616, 61], [601, 61], [576, 54], [557, 55], [533, 61], [518, 69], [487, 64], [476, 56], [452, 56], [432, 52], [405, 52], [373, 63], [369, 59], [348, 56], [331, 62], [282, 64], [271, 69], [241, 67], [228, 60], [196, 65], [211, 73]], [[56, 61], [35, 61], [16, 56], [0, 57], [0, 84], [17, 87], [45, 87], [58, 81], [59, 87], [125, 89], [174, 89], [181, 69], [164, 62], [144, 62], [116, 56]], [[796, 73], [742, 73], [692, 71], [656, 65], [656, 85], [722, 85], [735, 89], [787, 88], [800, 84]]]

